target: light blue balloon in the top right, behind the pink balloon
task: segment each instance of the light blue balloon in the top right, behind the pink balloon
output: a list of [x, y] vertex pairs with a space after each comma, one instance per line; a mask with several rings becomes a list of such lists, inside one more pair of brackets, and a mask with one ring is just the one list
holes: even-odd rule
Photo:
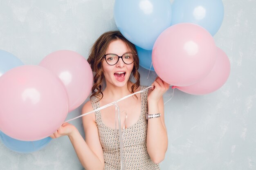
[[174, 0], [172, 25], [190, 22], [198, 24], [215, 35], [222, 24], [224, 7], [222, 0]]

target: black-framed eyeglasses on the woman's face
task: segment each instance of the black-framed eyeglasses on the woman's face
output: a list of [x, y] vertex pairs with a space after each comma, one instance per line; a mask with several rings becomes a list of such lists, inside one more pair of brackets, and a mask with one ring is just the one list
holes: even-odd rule
[[134, 61], [135, 55], [137, 55], [137, 54], [125, 53], [122, 56], [118, 56], [117, 54], [106, 54], [106, 55], [103, 55], [103, 57], [105, 58], [106, 62], [110, 66], [113, 66], [113, 65], [117, 64], [117, 62], [119, 61], [119, 58], [121, 58], [125, 64], [132, 64]]

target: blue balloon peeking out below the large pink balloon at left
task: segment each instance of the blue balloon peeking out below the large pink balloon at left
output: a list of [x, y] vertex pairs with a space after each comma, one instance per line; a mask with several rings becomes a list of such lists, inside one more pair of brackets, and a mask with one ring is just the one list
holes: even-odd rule
[[17, 139], [13, 139], [3, 132], [0, 131], [0, 139], [2, 139], [2, 143], [15, 152], [19, 153], [31, 153], [43, 149], [51, 140], [51, 137], [47, 137], [38, 141], [20, 141]]

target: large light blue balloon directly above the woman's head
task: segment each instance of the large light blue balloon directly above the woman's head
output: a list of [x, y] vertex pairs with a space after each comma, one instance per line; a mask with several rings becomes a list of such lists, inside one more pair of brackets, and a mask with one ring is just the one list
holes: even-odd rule
[[119, 31], [133, 44], [152, 50], [157, 37], [171, 26], [170, 0], [116, 0], [114, 18]]

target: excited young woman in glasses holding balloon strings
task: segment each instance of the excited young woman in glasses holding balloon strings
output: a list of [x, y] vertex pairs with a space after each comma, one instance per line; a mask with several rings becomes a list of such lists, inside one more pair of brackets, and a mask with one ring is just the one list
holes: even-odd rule
[[[88, 62], [95, 72], [90, 101], [82, 113], [141, 91], [139, 59], [135, 46], [119, 31], [106, 32], [94, 43]], [[134, 77], [135, 83], [130, 81]], [[103, 81], [106, 88], [103, 90]], [[158, 170], [168, 139], [162, 95], [169, 84], [159, 77], [153, 88], [118, 102], [127, 170]], [[86, 170], [120, 169], [119, 126], [115, 106], [82, 117], [85, 140], [72, 125], [64, 123], [51, 137], [67, 135]]]

